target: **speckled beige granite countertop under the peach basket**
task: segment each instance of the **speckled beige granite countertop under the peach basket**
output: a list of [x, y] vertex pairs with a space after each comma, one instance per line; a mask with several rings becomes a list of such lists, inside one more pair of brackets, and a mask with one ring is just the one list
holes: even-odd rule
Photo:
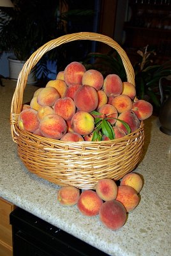
[[[134, 172], [144, 177], [140, 204], [128, 214], [126, 224], [113, 231], [98, 216], [83, 216], [77, 206], [57, 202], [59, 186], [26, 170], [10, 133], [11, 98], [15, 81], [0, 86], [0, 196], [28, 212], [82, 239], [108, 255], [171, 255], [170, 181], [171, 136], [163, 134], [156, 116], [145, 120], [142, 161]], [[24, 102], [31, 100], [36, 86], [27, 85]]]

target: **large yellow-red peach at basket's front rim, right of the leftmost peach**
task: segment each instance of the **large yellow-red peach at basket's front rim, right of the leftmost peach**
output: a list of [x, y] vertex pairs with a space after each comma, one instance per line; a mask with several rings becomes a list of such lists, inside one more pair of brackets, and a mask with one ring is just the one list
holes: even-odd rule
[[61, 139], [66, 134], [66, 122], [64, 118], [56, 114], [45, 116], [39, 125], [40, 132], [43, 136], [52, 139]]

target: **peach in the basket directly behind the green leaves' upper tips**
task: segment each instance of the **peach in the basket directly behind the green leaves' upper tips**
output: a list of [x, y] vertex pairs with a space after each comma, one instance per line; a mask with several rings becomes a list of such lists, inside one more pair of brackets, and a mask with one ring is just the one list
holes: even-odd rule
[[98, 109], [98, 112], [102, 113], [102, 115], [98, 117], [107, 119], [107, 121], [110, 122], [110, 124], [115, 124], [115, 118], [117, 118], [118, 113], [117, 109], [114, 106], [110, 104], [105, 104], [101, 106], [100, 109]]

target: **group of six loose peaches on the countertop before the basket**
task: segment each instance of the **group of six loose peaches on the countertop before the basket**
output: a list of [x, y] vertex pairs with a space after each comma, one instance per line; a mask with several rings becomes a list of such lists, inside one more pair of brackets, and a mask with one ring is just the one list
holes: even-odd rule
[[119, 186], [108, 178], [98, 180], [92, 190], [63, 186], [57, 191], [57, 200], [62, 205], [77, 204], [78, 211], [85, 216], [98, 215], [105, 227], [117, 230], [126, 223], [128, 212], [139, 204], [142, 186], [140, 175], [132, 172], [124, 175]]

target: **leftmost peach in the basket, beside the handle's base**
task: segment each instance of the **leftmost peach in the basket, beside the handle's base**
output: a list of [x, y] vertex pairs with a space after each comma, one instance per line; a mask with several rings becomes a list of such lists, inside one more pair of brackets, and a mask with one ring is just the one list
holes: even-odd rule
[[39, 127], [37, 111], [32, 108], [24, 109], [20, 112], [18, 124], [20, 129], [34, 132]]

